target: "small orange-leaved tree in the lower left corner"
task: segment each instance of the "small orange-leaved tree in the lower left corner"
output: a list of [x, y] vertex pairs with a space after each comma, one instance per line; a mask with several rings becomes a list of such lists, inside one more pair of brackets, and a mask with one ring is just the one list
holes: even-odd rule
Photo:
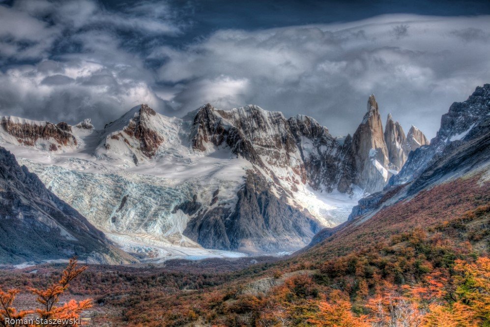
[[[18, 289], [11, 289], [7, 292], [3, 292], [0, 289], [0, 326], [3, 327], [17, 327], [17, 326], [32, 326], [26, 324], [7, 324], [6, 319], [26, 319], [30, 314], [37, 314], [37, 318], [42, 320], [75, 320], [80, 317], [82, 311], [92, 306], [91, 299], [85, 299], [82, 301], [69, 300], [61, 306], [58, 306], [59, 297], [69, 287], [69, 283], [75, 279], [78, 275], [86, 270], [87, 267], [78, 268], [77, 258], [70, 259], [68, 266], [63, 270], [63, 276], [58, 281], [47, 289], [35, 289], [29, 288], [29, 291], [37, 296], [36, 301], [41, 304], [39, 308], [27, 311], [17, 311], [12, 303], [16, 295], [20, 292]], [[35, 321], [35, 318], [34, 318]], [[51, 325], [41, 325], [51, 326]], [[55, 325], [52, 325], [55, 326]], [[57, 324], [56, 326], [62, 326]], [[65, 325], [70, 326], [70, 325]]]

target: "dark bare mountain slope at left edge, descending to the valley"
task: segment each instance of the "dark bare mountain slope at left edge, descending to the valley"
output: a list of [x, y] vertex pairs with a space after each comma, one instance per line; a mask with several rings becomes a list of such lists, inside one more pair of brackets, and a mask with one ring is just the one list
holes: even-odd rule
[[131, 260], [0, 147], [0, 262], [18, 264], [74, 255], [91, 263]]

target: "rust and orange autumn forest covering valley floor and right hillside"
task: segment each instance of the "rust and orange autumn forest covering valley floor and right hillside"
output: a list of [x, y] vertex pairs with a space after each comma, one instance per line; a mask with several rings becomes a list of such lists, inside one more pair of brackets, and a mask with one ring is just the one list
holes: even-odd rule
[[[93, 298], [98, 327], [490, 326], [488, 176], [436, 185], [288, 258], [90, 266], [69, 296]], [[0, 284], [42, 286], [62, 268], [4, 268]]]

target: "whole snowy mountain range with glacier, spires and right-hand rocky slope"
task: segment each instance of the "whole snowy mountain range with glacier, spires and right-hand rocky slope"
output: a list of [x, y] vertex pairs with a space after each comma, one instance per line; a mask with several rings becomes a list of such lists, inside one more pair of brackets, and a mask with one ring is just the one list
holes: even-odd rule
[[488, 103], [485, 85], [453, 104], [430, 144], [414, 126], [405, 136], [391, 115], [383, 129], [374, 95], [345, 138], [307, 116], [209, 104], [182, 119], [139, 105], [103, 130], [89, 119], [71, 126], [3, 117], [0, 137], [106, 242], [145, 258], [239, 256], [298, 250], [463, 162], [485, 162]]

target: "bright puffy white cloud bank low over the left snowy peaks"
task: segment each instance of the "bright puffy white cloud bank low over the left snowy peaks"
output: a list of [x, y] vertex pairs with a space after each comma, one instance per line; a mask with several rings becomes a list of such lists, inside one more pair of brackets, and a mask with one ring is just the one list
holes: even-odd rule
[[0, 73], [0, 112], [76, 123], [92, 118], [99, 127], [138, 103], [162, 107], [147, 81], [121, 78], [124, 66], [83, 60], [23, 65]]

